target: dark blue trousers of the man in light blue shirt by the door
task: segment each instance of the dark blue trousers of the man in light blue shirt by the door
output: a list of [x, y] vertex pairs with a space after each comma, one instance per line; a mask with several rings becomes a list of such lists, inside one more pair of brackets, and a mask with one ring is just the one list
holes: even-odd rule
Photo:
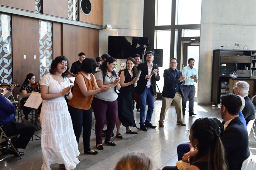
[[187, 87], [183, 86], [184, 98], [182, 101], [182, 111], [185, 113], [187, 99], [189, 98], [189, 113], [194, 112], [194, 97], [195, 97], [195, 86]]

